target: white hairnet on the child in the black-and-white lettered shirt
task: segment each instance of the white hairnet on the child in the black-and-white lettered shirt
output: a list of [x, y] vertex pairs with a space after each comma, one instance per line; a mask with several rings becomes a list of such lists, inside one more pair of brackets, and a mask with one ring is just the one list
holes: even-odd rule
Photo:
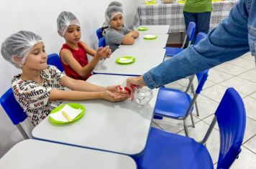
[[[42, 42], [42, 38], [33, 32], [20, 31], [12, 34], [1, 44], [1, 55], [14, 67], [21, 68], [27, 59], [30, 49]], [[18, 57], [19, 59], [15, 59]]]

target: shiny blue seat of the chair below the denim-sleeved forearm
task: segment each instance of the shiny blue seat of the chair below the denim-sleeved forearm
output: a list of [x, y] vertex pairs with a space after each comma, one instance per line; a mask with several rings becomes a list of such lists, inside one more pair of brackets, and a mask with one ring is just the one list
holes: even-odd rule
[[184, 117], [191, 102], [192, 98], [186, 92], [161, 87], [155, 103], [155, 115]]

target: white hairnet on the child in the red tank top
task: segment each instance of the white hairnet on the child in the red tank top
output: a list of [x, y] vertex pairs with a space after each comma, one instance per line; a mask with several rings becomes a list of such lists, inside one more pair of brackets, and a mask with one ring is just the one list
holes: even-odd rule
[[58, 33], [61, 37], [64, 37], [64, 34], [67, 31], [68, 26], [70, 25], [80, 26], [80, 23], [76, 16], [72, 14], [70, 11], [61, 12], [57, 19]]

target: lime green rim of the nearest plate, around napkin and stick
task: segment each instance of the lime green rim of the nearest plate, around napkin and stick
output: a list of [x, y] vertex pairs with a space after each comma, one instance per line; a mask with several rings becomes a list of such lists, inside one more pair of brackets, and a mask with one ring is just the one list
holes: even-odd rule
[[[67, 103], [67, 104], [59, 105], [59, 106], [56, 107], [54, 110], [52, 110], [52, 111], [50, 112], [50, 114], [55, 113], [55, 112], [58, 112], [58, 111], [59, 111], [60, 109], [62, 109], [65, 105], [69, 105], [70, 107], [73, 107], [73, 108], [75, 108], [75, 109], [81, 108], [81, 110], [82, 110], [82, 112], [81, 112], [76, 118], [74, 118], [74, 119], [72, 120], [72, 122], [76, 122], [76, 120], [81, 119], [81, 117], [83, 117], [83, 115], [86, 113], [86, 108], [85, 108], [83, 105], [72, 102], [72, 103]], [[67, 123], [70, 123], [70, 122], [60, 122], [60, 121], [58, 121], [58, 120], [53, 119], [53, 118], [50, 117], [50, 116], [48, 116], [48, 119], [50, 120], [50, 122], [55, 123], [55, 124], [67, 124]]]

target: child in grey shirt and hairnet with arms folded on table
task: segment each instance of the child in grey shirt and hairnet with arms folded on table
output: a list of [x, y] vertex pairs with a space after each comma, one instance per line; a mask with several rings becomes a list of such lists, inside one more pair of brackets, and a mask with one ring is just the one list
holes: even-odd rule
[[123, 26], [123, 11], [120, 6], [109, 6], [105, 12], [109, 28], [106, 29], [106, 45], [114, 52], [120, 44], [134, 44], [134, 39], [139, 37], [139, 32]]

